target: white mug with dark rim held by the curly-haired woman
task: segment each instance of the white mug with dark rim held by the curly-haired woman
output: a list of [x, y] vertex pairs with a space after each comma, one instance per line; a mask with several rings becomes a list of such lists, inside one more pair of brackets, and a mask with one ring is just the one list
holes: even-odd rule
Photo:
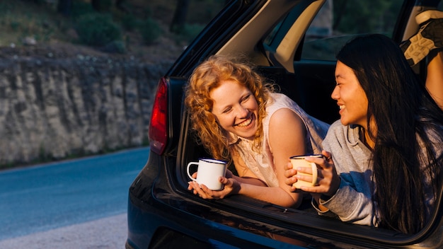
[[[197, 178], [192, 178], [189, 172], [190, 166], [197, 165]], [[222, 190], [223, 184], [219, 177], [226, 175], [226, 162], [212, 158], [200, 158], [197, 162], [188, 163], [186, 168], [189, 178], [195, 180], [198, 184], [206, 185], [209, 190]]]

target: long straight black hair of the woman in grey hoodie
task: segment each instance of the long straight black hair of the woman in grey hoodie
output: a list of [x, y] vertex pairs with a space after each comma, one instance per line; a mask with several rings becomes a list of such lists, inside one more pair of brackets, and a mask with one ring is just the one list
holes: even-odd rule
[[[355, 72], [368, 99], [367, 132], [372, 153], [374, 212], [381, 227], [416, 233], [427, 221], [425, 188], [440, 185], [443, 111], [427, 93], [398, 45], [385, 35], [356, 37], [337, 59]], [[375, 123], [375, 127], [369, 124]], [[421, 141], [420, 141], [421, 140]], [[425, 162], [427, 167], [420, 168]]]

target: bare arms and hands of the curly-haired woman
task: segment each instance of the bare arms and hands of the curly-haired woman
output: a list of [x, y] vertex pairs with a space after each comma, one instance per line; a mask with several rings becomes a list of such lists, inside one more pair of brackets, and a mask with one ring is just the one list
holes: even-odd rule
[[258, 179], [250, 170], [244, 170], [241, 163], [238, 163], [238, 158], [236, 158], [236, 169], [242, 172], [239, 172], [239, 175], [242, 175], [241, 179], [236, 177], [220, 178], [220, 181], [224, 184], [224, 190], [221, 191], [209, 190], [205, 185], [200, 188], [195, 185], [196, 183], [190, 183], [190, 188], [194, 190], [195, 194], [205, 199], [221, 199], [226, 195], [240, 194], [282, 207], [298, 207], [301, 204], [303, 194], [291, 192], [291, 187], [284, 183], [284, 180], [286, 180], [284, 166], [288, 163], [290, 156], [306, 153], [305, 138], [306, 129], [300, 117], [289, 109], [278, 110], [272, 115], [269, 127], [269, 142], [279, 182], [278, 187], [265, 187], [255, 184], [257, 182], [252, 184], [246, 182], [246, 178], [249, 177], [255, 178], [254, 181]]

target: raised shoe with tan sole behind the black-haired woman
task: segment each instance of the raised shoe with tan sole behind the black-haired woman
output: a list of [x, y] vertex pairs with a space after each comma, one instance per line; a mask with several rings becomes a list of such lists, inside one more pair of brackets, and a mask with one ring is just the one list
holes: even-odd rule
[[410, 66], [418, 64], [431, 50], [443, 47], [443, 18], [432, 18], [432, 15], [424, 14], [419, 19], [420, 21], [429, 21], [422, 24], [417, 34], [400, 45]]

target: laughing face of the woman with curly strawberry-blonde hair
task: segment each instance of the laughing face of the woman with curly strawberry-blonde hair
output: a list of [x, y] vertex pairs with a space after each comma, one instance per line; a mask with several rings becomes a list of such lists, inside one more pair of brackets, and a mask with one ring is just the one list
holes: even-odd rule
[[222, 81], [209, 97], [219, 125], [239, 137], [253, 139], [258, 129], [258, 103], [251, 91], [235, 81]]

